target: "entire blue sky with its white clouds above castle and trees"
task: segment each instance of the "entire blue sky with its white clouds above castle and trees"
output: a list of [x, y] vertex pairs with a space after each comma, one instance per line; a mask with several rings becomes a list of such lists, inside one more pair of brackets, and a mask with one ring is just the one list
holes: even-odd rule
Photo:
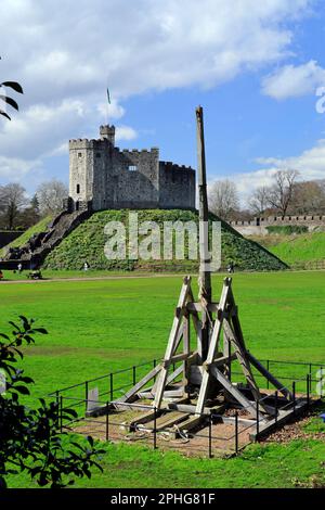
[[243, 205], [280, 168], [325, 178], [320, 0], [2, 0], [0, 20], [1, 77], [25, 89], [0, 183], [67, 182], [67, 140], [98, 136], [107, 85], [119, 146], [194, 167], [202, 104], [209, 181], [235, 180]]

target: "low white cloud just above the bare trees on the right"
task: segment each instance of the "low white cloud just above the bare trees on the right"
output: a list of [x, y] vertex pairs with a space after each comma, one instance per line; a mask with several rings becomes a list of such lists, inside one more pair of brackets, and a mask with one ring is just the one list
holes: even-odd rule
[[[227, 176], [229, 179], [236, 182], [243, 205], [257, 188], [272, 184], [273, 177], [278, 170], [298, 170], [300, 180], [325, 179], [325, 139], [318, 140], [313, 148], [297, 156], [285, 158], [259, 157], [257, 163], [265, 168]], [[220, 177], [220, 179], [222, 178], [225, 177]]]

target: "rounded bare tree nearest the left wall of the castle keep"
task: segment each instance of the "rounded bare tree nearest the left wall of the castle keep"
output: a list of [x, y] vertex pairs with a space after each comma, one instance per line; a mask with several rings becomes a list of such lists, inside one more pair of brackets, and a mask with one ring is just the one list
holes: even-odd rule
[[68, 189], [60, 180], [42, 182], [37, 189], [37, 197], [42, 215], [58, 213], [63, 209], [63, 201], [68, 196]]

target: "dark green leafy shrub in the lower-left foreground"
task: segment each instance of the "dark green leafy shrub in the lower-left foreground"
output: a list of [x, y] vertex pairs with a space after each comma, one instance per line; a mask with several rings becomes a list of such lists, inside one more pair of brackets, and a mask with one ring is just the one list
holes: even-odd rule
[[[20, 401], [21, 395], [29, 395], [28, 385], [34, 382], [16, 369], [18, 358], [24, 357], [21, 347], [35, 343], [36, 334], [47, 334], [43, 328], [35, 328], [34, 320], [20, 319], [21, 324], [10, 322], [11, 339], [0, 333], [0, 488], [6, 487], [8, 475], [23, 471], [41, 487], [73, 485], [76, 476], [91, 477], [94, 466], [102, 471], [96, 460], [104, 450], [91, 437], [76, 442], [60, 432], [56, 401], [40, 399], [36, 408]], [[76, 417], [74, 410], [63, 409], [63, 419]]]

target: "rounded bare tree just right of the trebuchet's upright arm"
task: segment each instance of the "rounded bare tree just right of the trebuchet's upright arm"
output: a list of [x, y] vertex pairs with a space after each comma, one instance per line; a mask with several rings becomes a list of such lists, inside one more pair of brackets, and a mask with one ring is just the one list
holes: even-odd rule
[[239, 208], [239, 199], [236, 184], [229, 180], [218, 180], [209, 190], [210, 211], [219, 218], [229, 221]]

